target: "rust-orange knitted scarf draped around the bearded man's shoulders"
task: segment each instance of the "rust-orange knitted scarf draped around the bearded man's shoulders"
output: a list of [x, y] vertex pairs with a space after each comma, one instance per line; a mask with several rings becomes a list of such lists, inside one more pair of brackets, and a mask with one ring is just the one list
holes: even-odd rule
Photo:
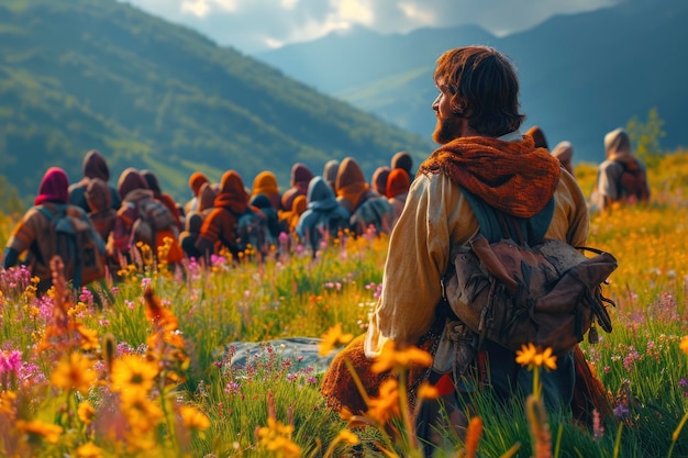
[[533, 137], [504, 142], [491, 137], [456, 138], [435, 149], [418, 175], [445, 172], [456, 185], [513, 216], [531, 217], [554, 196], [559, 161]]

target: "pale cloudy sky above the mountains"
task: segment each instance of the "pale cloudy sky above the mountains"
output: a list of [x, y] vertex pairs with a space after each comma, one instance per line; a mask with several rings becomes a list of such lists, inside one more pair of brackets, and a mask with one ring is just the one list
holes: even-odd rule
[[380, 33], [478, 24], [504, 35], [621, 0], [122, 0], [253, 54], [362, 25]]

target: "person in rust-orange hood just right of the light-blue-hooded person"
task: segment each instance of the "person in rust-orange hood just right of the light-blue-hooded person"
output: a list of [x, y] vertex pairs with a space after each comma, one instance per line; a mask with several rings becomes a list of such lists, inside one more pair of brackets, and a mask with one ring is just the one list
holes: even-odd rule
[[349, 228], [357, 235], [370, 226], [389, 233], [395, 211], [386, 197], [373, 191], [353, 157], [342, 160], [336, 177], [337, 202], [351, 212]]

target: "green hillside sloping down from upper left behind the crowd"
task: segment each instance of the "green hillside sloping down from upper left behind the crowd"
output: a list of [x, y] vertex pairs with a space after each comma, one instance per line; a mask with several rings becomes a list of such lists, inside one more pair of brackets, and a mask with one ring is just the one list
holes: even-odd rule
[[251, 186], [264, 169], [289, 183], [302, 161], [319, 174], [353, 156], [368, 174], [400, 149], [423, 157], [429, 139], [409, 134], [114, 0], [0, 2], [0, 176], [35, 194], [45, 169], [81, 176], [100, 150], [116, 180], [152, 168], [178, 199], [201, 170], [226, 169]]

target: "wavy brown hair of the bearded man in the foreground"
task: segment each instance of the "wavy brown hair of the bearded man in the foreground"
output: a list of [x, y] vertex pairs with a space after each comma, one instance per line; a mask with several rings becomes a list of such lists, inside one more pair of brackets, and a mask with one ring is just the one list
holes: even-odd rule
[[481, 135], [498, 137], [517, 131], [519, 79], [509, 59], [488, 46], [450, 49], [437, 59], [433, 76], [452, 92], [452, 110]]

